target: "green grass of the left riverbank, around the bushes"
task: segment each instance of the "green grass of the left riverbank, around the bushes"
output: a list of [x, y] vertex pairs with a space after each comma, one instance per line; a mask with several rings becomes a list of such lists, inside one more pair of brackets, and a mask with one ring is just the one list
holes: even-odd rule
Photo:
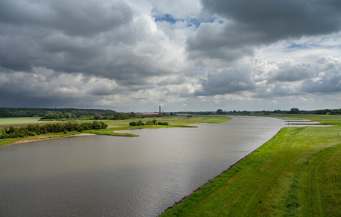
[[[2, 120], [6, 119], [6, 120]], [[35, 118], [33, 120], [38, 120], [39, 118]], [[143, 122], [147, 122], [150, 120], [156, 119], [162, 122], [168, 122], [169, 125], [144, 125], [144, 126], [129, 126], [129, 122], [131, 121], [139, 121], [142, 120]], [[9, 123], [29, 123], [30, 118], [11, 118], [9, 122], [9, 118], [0, 118], [0, 123], [9, 124]], [[99, 129], [99, 130], [85, 130], [82, 132], [68, 132], [67, 134], [64, 133], [47, 133], [35, 136], [28, 136], [25, 138], [7, 138], [7, 139], [0, 139], [0, 146], [16, 143], [16, 142], [23, 142], [23, 141], [30, 141], [36, 139], [46, 139], [46, 138], [55, 138], [55, 137], [62, 137], [62, 136], [71, 136], [77, 134], [97, 134], [97, 135], [110, 135], [110, 136], [125, 136], [125, 137], [135, 137], [138, 136], [136, 134], [131, 133], [115, 133], [113, 131], [119, 130], [131, 130], [131, 129], [142, 129], [142, 128], [161, 128], [161, 127], [190, 127], [187, 126], [189, 124], [195, 123], [220, 123], [224, 121], [231, 120], [231, 118], [223, 117], [223, 116], [193, 116], [193, 117], [186, 117], [186, 116], [166, 116], [166, 117], [150, 117], [150, 118], [143, 118], [143, 119], [128, 119], [128, 120], [103, 120], [106, 124], [108, 124], [108, 128], [106, 129]], [[1, 122], [2, 121], [2, 122]], [[77, 121], [77, 122], [92, 122], [93, 120], [87, 121]], [[53, 122], [51, 122], [53, 123]], [[35, 124], [33, 122], [32, 124]]]

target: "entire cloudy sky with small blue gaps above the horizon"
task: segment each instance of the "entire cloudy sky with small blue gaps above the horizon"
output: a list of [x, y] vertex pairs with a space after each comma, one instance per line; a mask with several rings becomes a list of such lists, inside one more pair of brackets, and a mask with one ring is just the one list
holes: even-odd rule
[[0, 107], [341, 108], [339, 0], [1, 0]]

